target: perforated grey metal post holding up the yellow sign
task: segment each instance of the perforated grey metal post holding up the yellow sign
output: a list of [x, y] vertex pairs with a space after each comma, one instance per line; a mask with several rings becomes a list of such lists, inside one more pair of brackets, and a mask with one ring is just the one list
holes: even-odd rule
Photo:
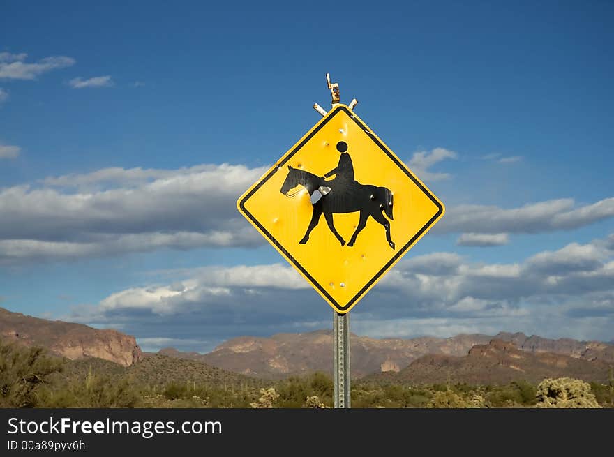
[[335, 407], [350, 407], [350, 313], [333, 314]]

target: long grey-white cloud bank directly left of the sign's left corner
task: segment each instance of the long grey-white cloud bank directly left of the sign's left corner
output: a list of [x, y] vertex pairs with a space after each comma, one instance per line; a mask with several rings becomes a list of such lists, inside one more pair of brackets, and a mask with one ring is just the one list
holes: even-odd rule
[[235, 204], [264, 171], [228, 164], [107, 169], [49, 179], [42, 188], [2, 189], [0, 262], [260, 244]]

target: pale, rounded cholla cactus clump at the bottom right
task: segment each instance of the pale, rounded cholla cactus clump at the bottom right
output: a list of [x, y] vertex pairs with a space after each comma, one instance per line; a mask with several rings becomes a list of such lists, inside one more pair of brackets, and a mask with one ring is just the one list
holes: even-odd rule
[[547, 378], [537, 386], [536, 407], [597, 408], [590, 384], [571, 377]]

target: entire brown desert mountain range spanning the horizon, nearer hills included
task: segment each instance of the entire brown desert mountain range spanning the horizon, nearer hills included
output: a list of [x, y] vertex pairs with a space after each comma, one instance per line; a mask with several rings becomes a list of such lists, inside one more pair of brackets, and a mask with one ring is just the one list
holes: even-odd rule
[[[241, 336], [212, 352], [156, 354], [142, 352], [133, 336], [99, 330], [84, 324], [52, 321], [0, 308], [0, 338], [24, 345], [47, 347], [55, 354], [78, 360], [97, 357], [121, 366], [145, 363], [149, 357], [199, 361], [223, 370], [278, 379], [314, 371], [331, 373], [331, 330], [304, 334], [276, 334], [270, 338]], [[539, 380], [566, 375], [605, 380], [614, 365], [614, 345], [570, 338], [552, 340], [522, 333], [495, 336], [461, 334], [451, 338], [370, 338], [352, 334], [352, 377], [380, 381], [488, 383], [518, 378]], [[177, 362], [178, 366], [181, 364]]]

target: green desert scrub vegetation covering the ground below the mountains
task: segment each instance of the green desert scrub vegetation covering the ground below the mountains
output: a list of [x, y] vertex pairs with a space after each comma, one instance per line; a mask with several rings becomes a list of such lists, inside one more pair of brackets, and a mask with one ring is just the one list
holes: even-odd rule
[[[0, 407], [285, 407], [333, 405], [329, 375], [257, 380], [198, 361], [151, 357], [132, 367], [69, 361], [0, 342]], [[614, 407], [614, 381], [411, 385], [355, 380], [352, 407]]]

